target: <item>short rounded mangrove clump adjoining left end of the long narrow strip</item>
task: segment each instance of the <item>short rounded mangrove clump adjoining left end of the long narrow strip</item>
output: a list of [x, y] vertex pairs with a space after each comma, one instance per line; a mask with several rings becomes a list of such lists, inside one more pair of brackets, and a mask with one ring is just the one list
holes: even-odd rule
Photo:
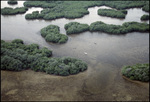
[[80, 24], [78, 22], [70, 22], [65, 25], [67, 34], [76, 34], [89, 30], [89, 26], [87, 24]]

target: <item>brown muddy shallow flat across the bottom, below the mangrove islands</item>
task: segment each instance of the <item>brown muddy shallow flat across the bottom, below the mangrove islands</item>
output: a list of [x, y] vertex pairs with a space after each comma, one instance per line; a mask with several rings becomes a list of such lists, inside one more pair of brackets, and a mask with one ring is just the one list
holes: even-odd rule
[[[110, 68], [109, 68], [110, 67]], [[2, 101], [149, 101], [149, 83], [133, 83], [103, 64], [67, 77], [25, 70], [1, 71]], [[95, 69], [95, 70], [92, 70]], [[97, 74], [100, 72], [99, 74]], [[117, 73], [116, 73], [117, 72]], [[106, 74], [107, 73], [107, 74]], [[105, 76], [110, 75], [110, 76]]]

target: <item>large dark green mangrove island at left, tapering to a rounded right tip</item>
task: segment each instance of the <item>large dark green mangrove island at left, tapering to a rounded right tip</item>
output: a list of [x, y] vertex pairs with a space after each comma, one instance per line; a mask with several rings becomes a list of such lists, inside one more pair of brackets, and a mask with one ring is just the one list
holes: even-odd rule
[[12, 42], [1, 40], [1, 70], [21, 71], [31, 68], [47, 74], [67, 76], [87, 69], [87, 64], [81, 60], [51, 56], [51, 50], [45, 47], [40, 49], [37, 44], [24, 45], [20, 39]]

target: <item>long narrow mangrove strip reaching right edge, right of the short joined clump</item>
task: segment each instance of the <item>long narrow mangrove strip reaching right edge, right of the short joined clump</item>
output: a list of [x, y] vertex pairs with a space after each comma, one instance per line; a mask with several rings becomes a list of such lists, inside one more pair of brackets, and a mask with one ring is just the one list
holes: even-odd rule
[[91, 32], [101, 31], [110, 34], [126, 34], [129, 32], [148, 32], [149, 24], [138, 22], [125, 22], [122, 25], [113, 25], [97, 21], [91, 23], [90, 31]]

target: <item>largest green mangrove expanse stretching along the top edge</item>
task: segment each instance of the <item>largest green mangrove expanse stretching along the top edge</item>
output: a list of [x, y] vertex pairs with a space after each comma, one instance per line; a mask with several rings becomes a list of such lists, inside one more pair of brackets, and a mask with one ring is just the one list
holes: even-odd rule
[[[42, 7], [40, 13], [27, 14], [26, 19], [54, 20], [58, 18], [81, 18], [89, 14], [88, 8], [94, 6], [109, 6], [118, 10], [143, 7], [147, 1], [26, 1], [25, 7]], [[146, 6], [147, 7], [147, 6]], [[149, 7], [149, 5], [148, 5]], [[143, 9], [145, 10], [145, 9]]]

